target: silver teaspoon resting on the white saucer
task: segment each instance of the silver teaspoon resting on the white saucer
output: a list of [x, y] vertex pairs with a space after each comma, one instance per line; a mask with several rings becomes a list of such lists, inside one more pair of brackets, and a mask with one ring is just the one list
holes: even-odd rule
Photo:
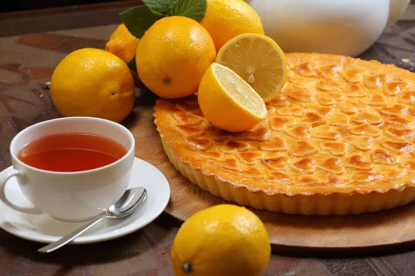
[[138, 208], [138, 206], [140, 206], [146, 197], [147, 190], [145, 190], [145, 188], [135, 187], [128, 189], [124, 192], [124, 194], [122, 194], [120, 199], [118, 199], [115, 204], [109, 206], [109, 208], [107, 208], [104, 213], [89, 221], [88, 224], [78, 228], [77, 230], [74, 230], [73, 232], [62, 237], [61, 239], [58, 239], [52, 244], [48, 244], [47, 246], [39, 248], [37, 251], [40, 253], [50, 253], [55, 251], [57, 248], [61, 248], [65, 244], [68, 244], [68, 242], [71, 242], [73, 239], [75, 239], [75, 237], [78, 237], [95, 224], [98, 224], [99, 221], [106, 219], [107, 217], [111, 219], [120, 219], [122, 217], [127, 217], [128, 215], [131, 215]]

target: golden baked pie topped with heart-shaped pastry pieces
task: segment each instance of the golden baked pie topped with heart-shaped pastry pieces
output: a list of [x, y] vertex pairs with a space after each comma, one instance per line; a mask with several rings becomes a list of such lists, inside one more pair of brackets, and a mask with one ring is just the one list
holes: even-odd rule
[[[415, 186], [415, 75], [378, 61], [338, 55], [291, 53], [286, 58], [286, 86], [266, 103], [266, 121], [250, 130], [214, 128], [195, 95], [158, 99], [155, 123], [176, 168], [182, 173], [200, 171], [199, 178], [215, 179], [219, 190], [238, 188], [242, 194], [307, 200], [313, 195], [318, 200], [333, 194], [365, 200], [362, 195], [377, 193], [380, 199], [393, 194], [376, 203], [378, 210], [412, 201], [396, 192]], [[230, 198], [220, 191], [214, 194]], [[340, 213], [375, 211], [366, 209]]]

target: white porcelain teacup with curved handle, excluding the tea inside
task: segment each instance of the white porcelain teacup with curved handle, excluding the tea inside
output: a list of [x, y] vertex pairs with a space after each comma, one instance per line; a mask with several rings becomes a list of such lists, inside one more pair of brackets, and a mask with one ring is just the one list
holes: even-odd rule
[[[55, 172], [28, 166], [17, 157], [30, 141], [46, 135], [86, 132], [118, 141], [127, 153], [117, 161], [80, 172]], [[0, 199], [23, 213], [46, 213], [56, 219], [80, 221], [90, 219], [115, 203], [127, 189], [134, 161], [135, 141], [124, 126], [93, 117], [68, 117], [43, 121], [19, 132], [10, 144], [13, 170], [0, 178]], [[17, 177], [21, 191], [35, 208], [18, 206], [5, 194], [6, 182]]]

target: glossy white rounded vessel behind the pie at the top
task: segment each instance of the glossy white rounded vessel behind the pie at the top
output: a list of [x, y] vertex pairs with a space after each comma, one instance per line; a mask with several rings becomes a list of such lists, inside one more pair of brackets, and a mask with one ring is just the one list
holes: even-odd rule
[[285, 52], [356, 57], [395, 23], [410, 0], [246, 0]]

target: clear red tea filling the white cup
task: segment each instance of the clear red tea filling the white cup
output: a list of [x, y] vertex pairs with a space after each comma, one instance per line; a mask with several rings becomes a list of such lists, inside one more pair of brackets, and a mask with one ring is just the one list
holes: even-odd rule
[[107, 166], [127, 153], [117, 141], [82, 132], [47, 135], [26, 144], [17, 157], [29, 166], [78, 172]]

